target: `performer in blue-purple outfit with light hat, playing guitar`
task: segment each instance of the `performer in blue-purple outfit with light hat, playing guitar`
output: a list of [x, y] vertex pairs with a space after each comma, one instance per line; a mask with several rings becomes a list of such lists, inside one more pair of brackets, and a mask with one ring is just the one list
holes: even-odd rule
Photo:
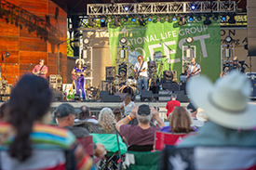
[[86, 71], [86, 68], [84, 67], [84, 64], [85, 64], [84, 59], [76, 59], [74, 69], [71, 73], [74, 79], [75, 93], [80, 95], [79, 87], [81, 87], [82, 97], [83, 99], [86, 99], [86, 94], [85, 94], [86, 73], [84, 73]]

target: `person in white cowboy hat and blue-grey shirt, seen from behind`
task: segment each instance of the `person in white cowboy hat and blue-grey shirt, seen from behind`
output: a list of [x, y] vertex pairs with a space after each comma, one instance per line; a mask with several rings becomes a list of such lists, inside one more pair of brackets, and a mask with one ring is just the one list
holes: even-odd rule
[[[185, 138], [178, 147], [256, 147], [256, 105], [249, 103], [251, 83], [242, 73], [231, 72], [212, 84], [198, 76], [187, 85], [193, 102], [208, 116], [196, 136]], [[239, 129], [239, 130], [237, 130]]]

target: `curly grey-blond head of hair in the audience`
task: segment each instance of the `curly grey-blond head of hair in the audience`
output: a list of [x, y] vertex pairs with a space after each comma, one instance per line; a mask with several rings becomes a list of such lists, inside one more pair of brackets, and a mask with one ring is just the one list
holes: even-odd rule
[[103, 108], [99, 114], [98, 124], [106, 134], [115, 134], [115, 115], [110, 108]]

